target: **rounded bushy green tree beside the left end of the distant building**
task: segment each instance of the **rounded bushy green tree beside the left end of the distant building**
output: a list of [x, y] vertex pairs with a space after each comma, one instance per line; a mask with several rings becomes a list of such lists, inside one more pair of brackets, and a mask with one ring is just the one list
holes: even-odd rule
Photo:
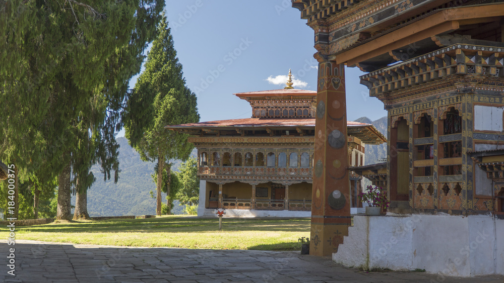
[[198, 177], [198, 166], [196, 158], [191, 157], [179, 167], [177, 173], [180, 188], [177, 193], [177, 200], [181, 204], [192, 206], [198, 205], [200, 199], [200, 178]]

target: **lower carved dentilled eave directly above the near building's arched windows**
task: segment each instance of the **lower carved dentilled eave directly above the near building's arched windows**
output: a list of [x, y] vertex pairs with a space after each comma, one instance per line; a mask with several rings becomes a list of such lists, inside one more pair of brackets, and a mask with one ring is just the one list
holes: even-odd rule
[[454, 44], [362, 75], [360, 81], [386, 109], [447, 92], [502, 92], [504, 44], [494, 45]]

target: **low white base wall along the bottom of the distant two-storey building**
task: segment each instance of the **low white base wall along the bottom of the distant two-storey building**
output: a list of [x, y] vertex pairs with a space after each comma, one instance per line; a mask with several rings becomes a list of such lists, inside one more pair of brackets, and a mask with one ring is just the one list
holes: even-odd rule
[[[201, 216], [218, 217], [214, 209], [205, 209]], [[198, 210], [198, 216], [199, 210]], [[290, 210], [245, 210], [245, 209], [226, 209], [223, 217], [311, 217], [311, 211], [290, 211]]]

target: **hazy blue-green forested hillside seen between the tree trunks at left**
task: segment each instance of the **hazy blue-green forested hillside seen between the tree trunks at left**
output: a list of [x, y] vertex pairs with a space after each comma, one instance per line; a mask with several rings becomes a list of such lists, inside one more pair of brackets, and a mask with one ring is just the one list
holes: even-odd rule
[[[149, 192], [156, 191], [156, 184], [152, 181], [154, 172], [153, 162], [144, 162], [140, 155], [124, 137], [117, 138], [119, 149], [119, 181], [114, 184], [113, 176], [110, 180], [103, 181], [103, 173], [98, 166], [91, 170], [96, 177], [96, 182], [88, 190], [89, 216], [122, 216], [122, 215], [155, 215], [156, 200], [151, 198]], [[196, 150], [192, 153], [196, 156]], [[173, 170], [178, 171], [180, 160], [172, 160]], [[162, 195], [166, 203], [166, 194]], [[72, 198], [72, 205], [75, 197]], [[173, 214], [182, 214], [183, 207], [174, 203]]]

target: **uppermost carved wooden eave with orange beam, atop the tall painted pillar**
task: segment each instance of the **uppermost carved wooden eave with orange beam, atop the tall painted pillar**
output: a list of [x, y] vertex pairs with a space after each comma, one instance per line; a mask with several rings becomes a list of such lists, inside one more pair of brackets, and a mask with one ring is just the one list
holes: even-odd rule
[[369, 72], [400, 61], [406, 50], [412, 57], [435, 49], [432, 35], [498, 23], [504, 4], [496, 2], [293, 0], [292, 6], [315, 32], [314, 57]]

